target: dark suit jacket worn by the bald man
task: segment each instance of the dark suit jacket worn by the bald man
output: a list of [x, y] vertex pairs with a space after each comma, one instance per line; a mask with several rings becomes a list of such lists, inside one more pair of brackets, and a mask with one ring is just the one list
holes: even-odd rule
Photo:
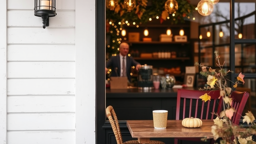
[[[135, 61], [131, 56], [126, 56], [126, 75], [129, 81], [131, 81], [131, 66], [136, 66], [140, 63]], [[117, 77], [121, 73], [120, 55], [112, 56], [106, 63], [106, 68], [111, 67], [111, 76]], [[117, 68], [117, 69], [116, 69]]]

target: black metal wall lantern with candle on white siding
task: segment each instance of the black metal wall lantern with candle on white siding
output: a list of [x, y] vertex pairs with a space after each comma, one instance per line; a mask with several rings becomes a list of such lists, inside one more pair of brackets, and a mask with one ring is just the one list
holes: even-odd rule
[[49, 26], [49, 17], [56, 16], [55, 0], [35, 0], [34, 15], [43, 20], [43, 28]]

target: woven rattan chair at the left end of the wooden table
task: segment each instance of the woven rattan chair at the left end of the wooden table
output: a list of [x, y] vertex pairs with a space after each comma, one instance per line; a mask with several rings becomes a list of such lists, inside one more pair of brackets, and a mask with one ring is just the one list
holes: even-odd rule
[[[137, 140], [129, 140], [123, 143], [118, 119], [116, 117], [115, 111], [112, 106], [108, 106], [106, 108], [106, 116], [108, 117], [111, 127], [113, 129], [117, 144], [139, 144]], [[149, 144], [165, 144], [165, 143], [162, 141], [150, 140]]]

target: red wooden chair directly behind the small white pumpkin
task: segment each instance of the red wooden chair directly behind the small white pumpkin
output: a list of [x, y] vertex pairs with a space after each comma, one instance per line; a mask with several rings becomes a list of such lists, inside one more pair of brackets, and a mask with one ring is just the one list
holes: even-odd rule
[[[199, 96], [207, 93], [211, 96], [211, 101], [204, 102]], [[188, 89], [178, 89], [177, 93], [177, 106], [176, 106], [176, 120], [194, 117], [200, 119], [214, 119], [214, 112], [219, 114], [220, 91], [199, 91], [199, 90], [188, 90]], [[181, 105], [183, 104], [183, 105]], [[182, 107], [181, 107], [182, 106]], [[182, 108], [182, 110], [181, 110]], [[181, 116], [180, 116], [181, 115]], [[201, 138], [175, 138], [174, 144], [178, 143], [180, 140], [188, 141], [201, 141]]]

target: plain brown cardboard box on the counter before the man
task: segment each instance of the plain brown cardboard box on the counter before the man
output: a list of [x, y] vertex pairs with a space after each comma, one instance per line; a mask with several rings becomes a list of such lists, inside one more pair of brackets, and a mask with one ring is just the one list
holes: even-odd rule
[[127, 89], [128, 79], [127, 77], [111, 77], [110, 89]]

